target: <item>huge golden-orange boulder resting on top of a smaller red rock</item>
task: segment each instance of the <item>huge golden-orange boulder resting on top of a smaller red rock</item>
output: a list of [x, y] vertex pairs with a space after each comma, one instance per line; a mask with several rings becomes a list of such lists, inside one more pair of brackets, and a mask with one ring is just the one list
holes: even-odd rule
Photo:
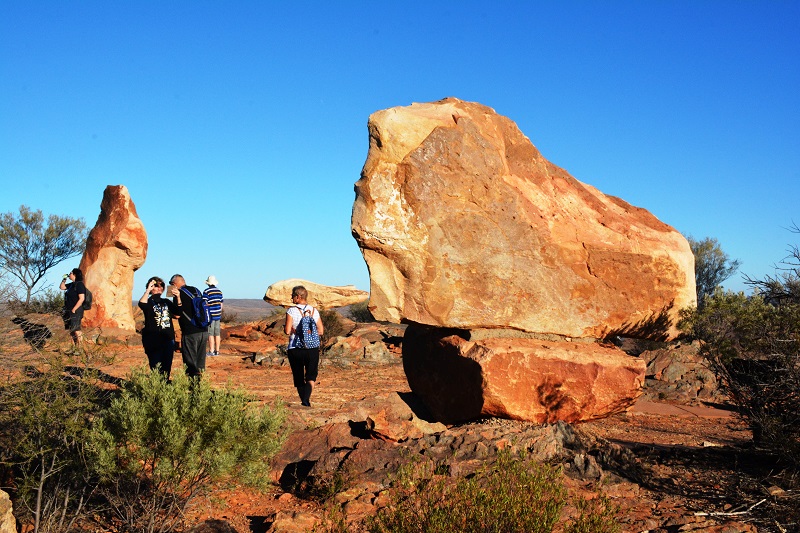
[[492, 109], [379, 111], [352, 232], [378, 320], [659, 337], [695, 304], [686, 239], [547, 161]]

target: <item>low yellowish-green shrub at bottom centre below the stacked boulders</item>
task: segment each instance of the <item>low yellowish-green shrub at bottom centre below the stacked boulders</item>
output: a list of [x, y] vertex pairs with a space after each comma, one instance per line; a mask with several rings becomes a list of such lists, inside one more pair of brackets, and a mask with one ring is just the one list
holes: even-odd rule
[[558, 469], [510, 453], [458, 480], [419, 463], [401, 474], [390, 505], [368, 519], [367, 528], [372, 533], [549, 532], [567, 502], [560, 476]]

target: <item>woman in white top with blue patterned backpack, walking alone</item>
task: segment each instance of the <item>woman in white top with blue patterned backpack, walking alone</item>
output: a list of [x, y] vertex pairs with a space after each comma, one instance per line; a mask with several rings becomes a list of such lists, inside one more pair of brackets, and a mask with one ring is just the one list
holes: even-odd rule
[[289, 335], [289, 366], [300, 396], [300, 405], [311, 407], [311, 392], [319, 370], [319, 338], [325, 333], [319, 311], [308, 305], [308, 291], [302, 285], [292, 288], [292, 305], [286, 310], [284, 333]]

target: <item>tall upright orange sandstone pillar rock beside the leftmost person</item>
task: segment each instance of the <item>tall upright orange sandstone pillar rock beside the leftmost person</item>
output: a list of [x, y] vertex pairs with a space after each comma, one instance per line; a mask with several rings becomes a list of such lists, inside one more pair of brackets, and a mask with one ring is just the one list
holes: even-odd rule
[[147, 232], [128, 189], [109, 185], [80, 264], [94, 297], [92, 309], [84, 314], [84, 326], [135, 329], [133, 273], [146, 257]]

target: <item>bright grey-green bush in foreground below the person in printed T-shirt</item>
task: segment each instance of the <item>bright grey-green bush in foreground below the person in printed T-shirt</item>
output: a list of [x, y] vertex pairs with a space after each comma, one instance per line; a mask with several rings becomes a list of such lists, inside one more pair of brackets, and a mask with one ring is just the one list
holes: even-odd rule
[[90, 434], [99, 490], [126, 530], [171, 531], [213, 481], [263, 488], [285, 417], [206, 379], [136, 371]]

